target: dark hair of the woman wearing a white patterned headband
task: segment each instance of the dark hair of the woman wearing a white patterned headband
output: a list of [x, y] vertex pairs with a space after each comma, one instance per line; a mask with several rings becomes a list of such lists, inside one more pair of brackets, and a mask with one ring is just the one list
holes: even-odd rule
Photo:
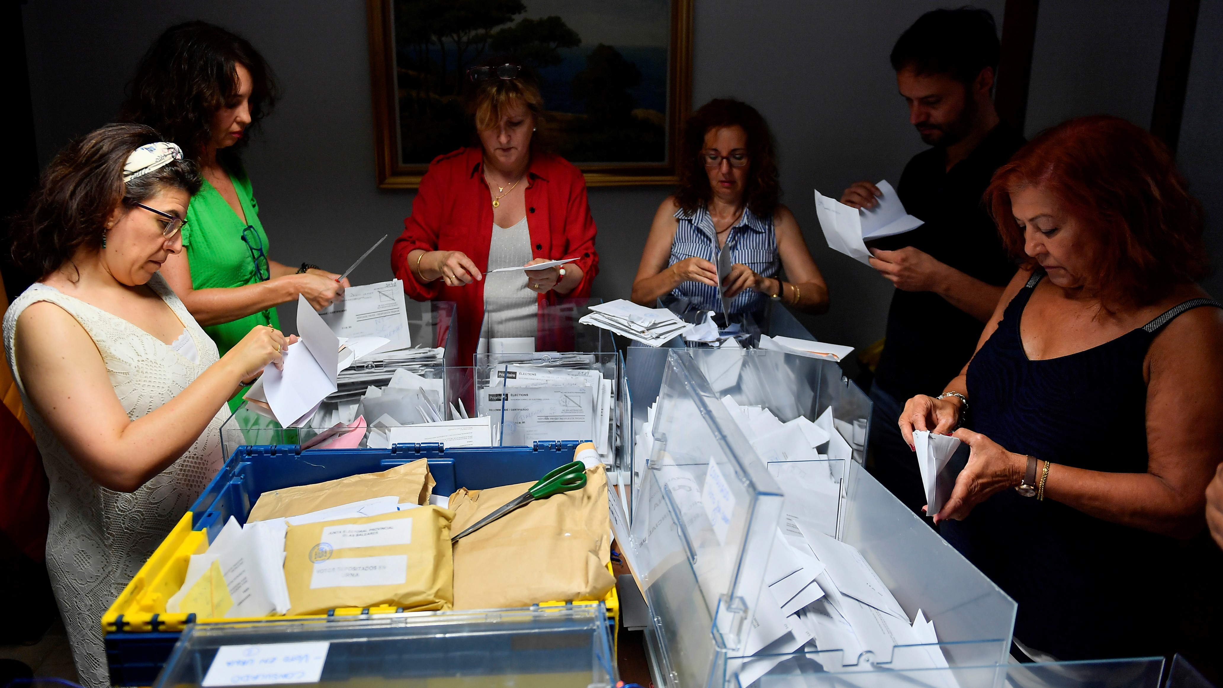
[[138, 124], [109, 124], [68, 143], [46, 165], [26, 212], [12, 223], [12, 261], [39, 277], [57, 271], [81, 246], [102, 247], [106, 220], [116, 207], [135, 208], [165, 189], [199, 191], [191, 160], [124, 182], [127, 157], [146, 143], [164, 141]]

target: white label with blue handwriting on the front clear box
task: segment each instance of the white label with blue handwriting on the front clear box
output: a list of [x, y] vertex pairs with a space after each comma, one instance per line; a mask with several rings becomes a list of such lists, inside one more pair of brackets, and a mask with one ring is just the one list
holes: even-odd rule
[[227, 645], [216, 650], [202, 686], [318, 683], [330, 643]]

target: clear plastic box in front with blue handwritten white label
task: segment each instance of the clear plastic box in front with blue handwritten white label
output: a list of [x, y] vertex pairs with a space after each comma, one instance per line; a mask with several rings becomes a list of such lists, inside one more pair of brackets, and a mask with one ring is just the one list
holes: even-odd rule
[[616, 679], [602, 608], [558, 607], [192, 624], [153, 686], [610, 688]]

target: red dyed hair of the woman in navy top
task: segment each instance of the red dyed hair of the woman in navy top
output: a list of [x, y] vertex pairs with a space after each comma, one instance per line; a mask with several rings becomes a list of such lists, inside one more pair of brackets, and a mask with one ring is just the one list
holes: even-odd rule
[[985, 202], [1008, 252], [1031, 267], [1010, 193], [1040, 187], [1085, 228], [1096, 273], [1084, 275], [1107, 308], [1158, 301], [1207, 272], [1201, 203], [1162, 141], [1120, 118], [1068, 120], [998, 168]]

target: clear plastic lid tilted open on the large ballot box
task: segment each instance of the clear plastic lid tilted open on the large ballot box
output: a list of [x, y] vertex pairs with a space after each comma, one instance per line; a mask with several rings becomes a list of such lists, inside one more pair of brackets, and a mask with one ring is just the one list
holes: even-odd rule
[[626, 546], [681, 686], [744, 643], [781, 502], [692, 357], [669, 350]]

